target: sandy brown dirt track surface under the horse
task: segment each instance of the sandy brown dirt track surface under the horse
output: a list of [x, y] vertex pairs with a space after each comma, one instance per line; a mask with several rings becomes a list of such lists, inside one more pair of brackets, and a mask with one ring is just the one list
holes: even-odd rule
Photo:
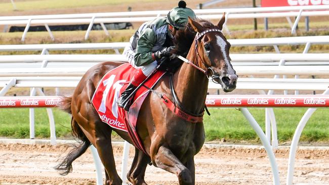
[[[95, 184], [96, 172], [88, 150], [73, 163], [73, 172], [61, 176], [54, 170], [63, 146], [0, 144], [0, 184]], [[65, 153], [64, 153], [65, 154]], [[134, 152], [130, 152], [132, 162]], [[114, 147], [116, 169], [121, 170], [122, 147]], [[285, 184], [289, 150], [275, 152], [280, 184]], [[295, 184], [329, 184], [329, 150], [299, 150]], [[196, 184], [272, 184], [263, 149], [202, 149], [195, 156]], [[104, 176], [104, 174], [103, 174]], [[148, 184], [178, 184], [174, 174], [148, 166]]]

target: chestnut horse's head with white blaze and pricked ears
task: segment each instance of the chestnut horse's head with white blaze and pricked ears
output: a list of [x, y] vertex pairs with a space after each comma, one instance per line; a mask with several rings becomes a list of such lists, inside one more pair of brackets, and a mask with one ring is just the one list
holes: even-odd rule
[[229, 57], [231, 44], [221, 32], [225, 22], [225, 13], [215, 26], [205, 20], [188, 20], [189, 25], [197, 32], [194, 61], [204, 68], [207, 77], [220, 83], [225, 92], [235, 89], [238, 76], [232, 67]]

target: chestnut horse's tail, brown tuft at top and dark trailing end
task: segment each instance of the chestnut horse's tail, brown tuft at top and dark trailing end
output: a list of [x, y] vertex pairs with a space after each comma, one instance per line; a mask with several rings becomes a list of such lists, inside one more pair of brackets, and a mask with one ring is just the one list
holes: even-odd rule
[[[63, 97], [60, 108], [71, 114], [71, 101], [72, 97]], [[70, 145], [73, 149], [71, 149], [63, 161], [55, 167], [56, 170], [61, 171], [61, 175], [67, 175], [68, 173], [72, 172], [72, 162], [84, 154], [91, 144], [73, 117], [71, 119], [71, 128], [72, 135], [77, 137], [79, 141], [78, 144]]]

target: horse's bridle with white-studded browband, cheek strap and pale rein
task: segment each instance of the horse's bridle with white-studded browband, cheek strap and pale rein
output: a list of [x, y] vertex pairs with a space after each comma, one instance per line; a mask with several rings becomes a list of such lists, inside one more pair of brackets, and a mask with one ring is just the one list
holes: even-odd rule
[[[195, 35], [195, 38], [194, 38], [194, 41], [195, 41], [195, 53], [197, 55], [197, 59], [200, 58], [201, 59], [201, 63], [202, 65], [206, 68], [206, 70], [200, 68], [199, 66], [193, 64], [192, 62], [190, 62], [189, 60], [185, 59], [184, 57], [181, 57], [181, 56], [177, 56], [179, 59], [183, 60], [184, 62], [192, 65], [194, 68], [200, 70], [202, 73], [204, 73], [208, 79], [212, 80], [213, 82], [215, 83], [218, 83], [215, 79], [216, 78], [220, 78], [220, 75], [218, 73], [215, 73], [214, 69], [212, 67], [208, 67], [204, 64], [204, 62], [202, 61], [202, 58], [200, 57], [200, 54], [199, 52], [197, 51], [197, 46], [199, 44], [199, 40], [200, 38], [209, 33], [209, 32], [222, 32], [220, 29], [208, 29], [208, 30], [205, 30], [205, 31], [202, 31], [201, 33], [197, 32], [196, 35]], [[197, 64], [197, 62], [196, 62]]]

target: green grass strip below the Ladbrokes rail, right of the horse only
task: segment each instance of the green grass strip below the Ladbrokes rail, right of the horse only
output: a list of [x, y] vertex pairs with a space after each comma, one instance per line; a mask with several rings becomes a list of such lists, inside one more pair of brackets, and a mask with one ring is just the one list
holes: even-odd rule
[[[291, 141], [295, 129], [307, 109], [274, 109], [278, 140]], [[228, 141], [258, 141], [249, 122], [236, 109], [211, 109], [211, 116], [204, 116], [204, 128], [208, 141], [225, 138]], [[265, 131], [265, 109], [252, 108], [249, 111]], [[329, 141], [329, 126], [327, 124], [328, 109], [318, 109], [312, 115], [301, 135], [301, 141]]]

